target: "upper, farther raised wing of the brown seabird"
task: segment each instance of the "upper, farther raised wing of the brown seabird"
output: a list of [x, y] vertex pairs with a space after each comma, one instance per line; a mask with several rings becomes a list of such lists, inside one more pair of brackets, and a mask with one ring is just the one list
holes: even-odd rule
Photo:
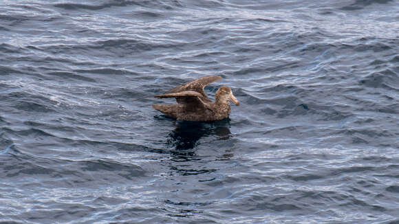
[[195, 80], [191, 80], [189, 82], [184, 83], [183, 85], [180, 85], [178, 87], [175, 87], [169, 91], [166, 91], [165, 94], [167, 93], [178, 93], [182, 91], [196, 91], [202, 95], [204, 98], [203, 100], [208, 101], [208, 96], [206, 96], [206, 93], [204, 91], [204, 87], [208, 85], [209, 83], [215, 82], [217, 80], [221, 80], [222, 77], [220, 76], [204, 76], [202, 78], [197, 78]]

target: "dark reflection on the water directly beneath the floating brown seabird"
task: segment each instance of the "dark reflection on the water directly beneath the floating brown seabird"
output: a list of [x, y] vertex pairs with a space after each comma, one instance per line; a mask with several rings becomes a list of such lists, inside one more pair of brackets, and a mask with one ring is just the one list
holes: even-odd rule
[[219, 139], [230, 138], [229, 127], [229, 119], [209, 123], [175, 121], [175, 129], [169, 133], [166, 144], [175, 148], [177, 153], [184, 153], [181, 150], [194, 148], [202, 137], [215, 135]]

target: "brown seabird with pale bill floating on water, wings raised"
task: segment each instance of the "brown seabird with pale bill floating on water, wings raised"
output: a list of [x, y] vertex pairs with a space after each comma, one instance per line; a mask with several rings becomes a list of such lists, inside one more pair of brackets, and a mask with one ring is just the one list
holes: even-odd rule
[[230, 115], [228, 101], [239, 105], [229, 87], [220, 87], [215, 93], [215, 102], [206, 96], [204, 87], [222, 79], [220, 76], [205, 76], [175, 87], [155, 98], [176, 98], [177, 104], [153, 104], [153, 109], [177, 120], [211, 122], [222, 120]]

